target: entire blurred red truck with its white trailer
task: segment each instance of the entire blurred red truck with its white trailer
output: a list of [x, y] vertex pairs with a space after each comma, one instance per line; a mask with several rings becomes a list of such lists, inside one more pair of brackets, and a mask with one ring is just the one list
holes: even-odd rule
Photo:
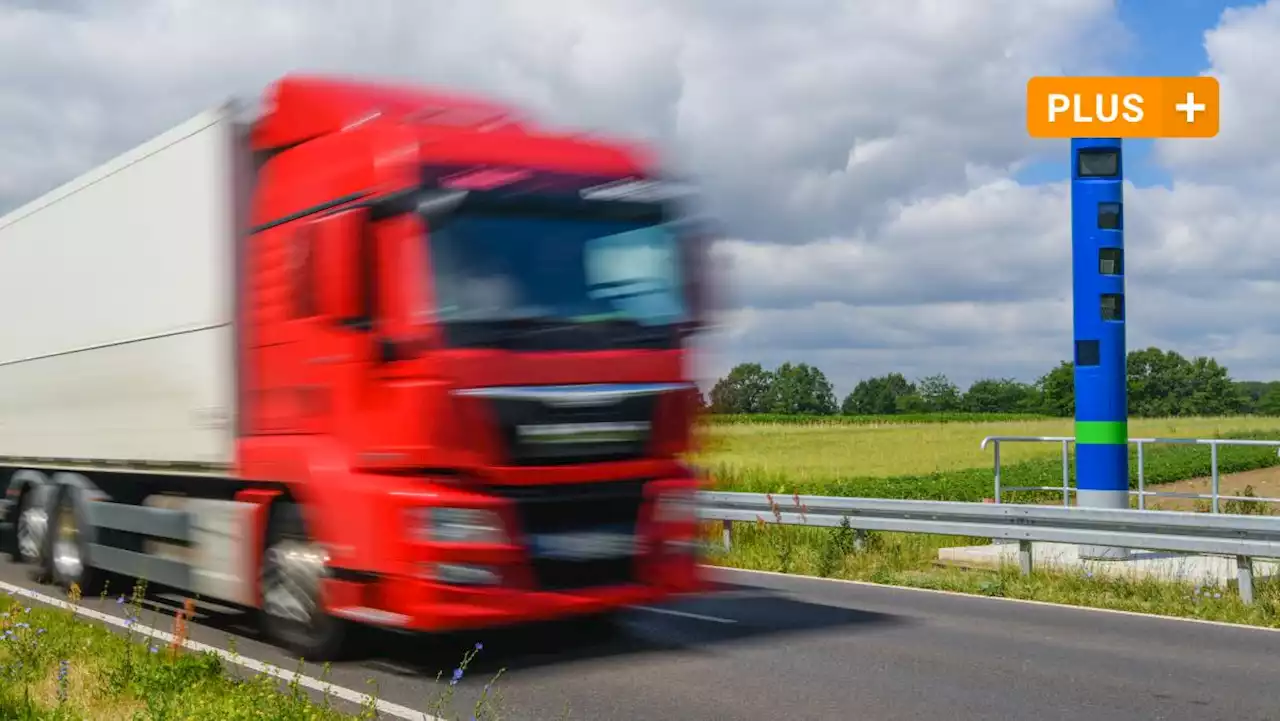
[[0, 218], [0, 538], [353, 629], [703, 588], [682, 458], [709, 232], [634, 143], [289, 76]]

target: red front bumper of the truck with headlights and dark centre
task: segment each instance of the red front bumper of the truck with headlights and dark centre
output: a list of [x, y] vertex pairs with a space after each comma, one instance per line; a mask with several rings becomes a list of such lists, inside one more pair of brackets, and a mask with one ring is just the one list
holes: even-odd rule
[[[659, 512], [659, 499], [684, 498], [695, 488], [687, 478], [669, 478], [507, 487], [485, 496], [438, 489], [424, 506], [428, 514], [433, 507], [488, 508], [502, 519], [507, 538], [444, 543], [406, 528], [392, 551], [399, 562], [378, 575], [326, 580], [325, 607], [366, 624], [449, 631], [594, 615], [699, 593], [707, 581], [696, 515]], [[590, 543], [590, 531], [609, 524], [628, 529], [635, 544], [617, 556], [608, 544], [594, 555], [556, 549], [556, 539], [566, 538], [561, 534], [588, 531]]]

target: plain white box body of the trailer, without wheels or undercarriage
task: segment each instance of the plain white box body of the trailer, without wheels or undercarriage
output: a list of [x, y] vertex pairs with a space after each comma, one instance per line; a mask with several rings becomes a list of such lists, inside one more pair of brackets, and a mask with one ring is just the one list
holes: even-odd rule
[[0, 464], [230, 465], [232, 108], [0, 218]]

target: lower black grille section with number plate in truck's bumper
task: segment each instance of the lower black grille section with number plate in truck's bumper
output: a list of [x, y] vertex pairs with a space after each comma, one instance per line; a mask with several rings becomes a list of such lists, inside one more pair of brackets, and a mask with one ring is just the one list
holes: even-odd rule
[[[529, 561], [538, 589], [571, 590], [622, 585], [636, 580], [639, 549], [609, 548], [600, 551], [599, 557], [567, 558], [563, 557], [563, 542], [588, 538], [584, 534], [603, 534], [591, 538], [630, 540], [634, 544], [637, 540], [636, 524], [645, 483], [627, 480], [495, 485], [489, 490], [516, 507], [520, 530], [529, 540]], [[561, 557], [556, 557], [557, 555]]]

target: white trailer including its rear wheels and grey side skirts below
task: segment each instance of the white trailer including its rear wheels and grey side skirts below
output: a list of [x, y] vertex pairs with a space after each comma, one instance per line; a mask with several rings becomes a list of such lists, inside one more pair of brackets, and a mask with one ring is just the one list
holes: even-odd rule
[[165, 498], [234, 458], [243, 132], [201, 113], [0, 218], [0, 535], [42, 579], [255, 602], [252, 506]]

